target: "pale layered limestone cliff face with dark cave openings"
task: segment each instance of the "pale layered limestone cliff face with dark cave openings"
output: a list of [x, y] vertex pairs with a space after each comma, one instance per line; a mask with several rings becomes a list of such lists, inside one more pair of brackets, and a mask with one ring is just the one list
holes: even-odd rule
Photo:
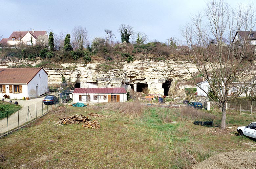
[[[24, 64], [24, 60], [6, 62], [0, 67]], [[32, 66], [38, 63], [28, 63]], [[45, 68], [48, 76], [49, 85], [60, 84], [61, 75], [64, 75], [70, 82], [80, 85], [80, 87], [125, 87], [128, 90], [142, 91], [148, 88], [152, 94], [168, 94], [174, 92], [177, 80], [189, 78], [184, 65], [190, 67], [191, 72], [197, 72], [192, 62], [180, 62], [167, 60], [155, 62], [151, 60], [136, 60], [134, 62], [115, 63], [111, 68], [99, 66], [99, 63], [83, 64], [61, 64], [61, 68]], [[176, 82], [177, 84], [177, 82]], [[168, 88], [168, 89], [167, 89]]]

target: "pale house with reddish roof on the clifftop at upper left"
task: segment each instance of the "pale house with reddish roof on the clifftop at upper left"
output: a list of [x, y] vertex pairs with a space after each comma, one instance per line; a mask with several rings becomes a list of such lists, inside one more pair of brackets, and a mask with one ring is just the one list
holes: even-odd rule
[[22, 43], [31, 46], [36, 44], [36, 39], [39, 36], [45, 36], [46, 38], [48, 38], [47, 32], [45, 30], [35, 31], [34, 29], [32, 29], [32, 31], [14, 31], [12, 32], [9, 38], [3, 38], [0, 44], [7, 44], [8, 46], [17, 46]]

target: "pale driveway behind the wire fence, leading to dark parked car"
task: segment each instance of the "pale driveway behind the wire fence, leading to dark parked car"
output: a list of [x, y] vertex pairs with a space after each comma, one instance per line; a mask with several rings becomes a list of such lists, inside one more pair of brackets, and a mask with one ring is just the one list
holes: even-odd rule
[[[55, 107], [55, 105], [42, 104], [44, 98], [45, 97], [43, 96], [30, 100], [5, 99], [6, 102], [11, 100], [14, 103], [17, 101], [18, 104], [22, 105], [22, 109], [19, 110], [19, 117], [18, 111], [8, 117], [8, 127], [7, 118], [0, 120], [0, 135], [6, 133], [8, 130], [11, 131], [11, 129], [22, 126], [25, 122], [31, 121], [36, 117], [42, 116], [42, 114], [47, 113], [47, 108], [48, 110], [51, 110], [52, 106]], [[28, 115], [30, 116], [28, 117]]]

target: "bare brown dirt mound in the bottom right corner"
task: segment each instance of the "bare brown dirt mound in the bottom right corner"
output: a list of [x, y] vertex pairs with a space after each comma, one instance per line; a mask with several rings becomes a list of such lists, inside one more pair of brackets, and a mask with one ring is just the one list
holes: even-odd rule
[[256, 152], [234, 150], [200, 162], [192, 169], [247, 169], [256, 168]]

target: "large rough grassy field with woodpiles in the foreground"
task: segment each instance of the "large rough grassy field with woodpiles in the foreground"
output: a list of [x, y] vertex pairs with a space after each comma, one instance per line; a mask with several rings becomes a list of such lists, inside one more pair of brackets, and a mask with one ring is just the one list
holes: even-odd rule
[[[81, 124], [54, 125], [69, 115], [98, 113], [100, 129]], [[227, 114], [232, 129], [194, 125], [213, 120], [220, 112], [189, 108], [144, 107], [139, 103], [88, 107], [61, 106], [29, 127], [0, 140], [0, 168], [190, 168], [210, 156], [234, 149], [250, 149], [254, 142], [237, 135], [236, 127], [255, 116]], [[177, 123], [171, 123], [176, 121]]]

